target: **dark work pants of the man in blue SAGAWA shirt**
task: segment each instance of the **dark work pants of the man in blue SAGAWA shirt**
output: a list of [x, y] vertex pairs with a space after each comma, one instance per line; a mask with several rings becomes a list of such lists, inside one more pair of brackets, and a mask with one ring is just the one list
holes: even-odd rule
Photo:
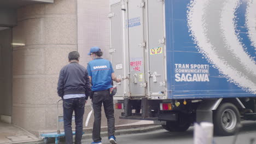
[[108, 137], [114, 136], [115, 133], [115, 118], [113, 97], [106, 91], [96, 91], [92, 97], [92, 105], [94, 107], [94, 128], [92, 130], [92, 140], [94, 142], [101, 141], [101, 106], [103, 103], [105, 115], [108, 121]]

